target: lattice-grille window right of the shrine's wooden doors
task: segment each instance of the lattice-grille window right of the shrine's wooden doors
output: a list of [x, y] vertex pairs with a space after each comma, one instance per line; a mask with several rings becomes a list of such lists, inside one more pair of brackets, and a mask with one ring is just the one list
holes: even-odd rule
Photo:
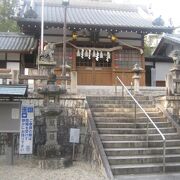
[[135, 64], [142, 66], [141, 54], [138, 50], [121, 50], [114, 54], [116, 68], [132, 69]]

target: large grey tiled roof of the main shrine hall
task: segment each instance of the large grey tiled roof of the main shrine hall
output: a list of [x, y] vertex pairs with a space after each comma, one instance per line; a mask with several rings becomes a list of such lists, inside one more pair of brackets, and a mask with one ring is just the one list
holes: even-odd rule
[[[27, 7], [26, 7], [27, 9]], [[35, 3], [33, 10], [37, 18], [22, 18], [21, 20], [40, 22], [41, 4]], [[67, 24], [79, 26], [105, 26], [105, 27], [129, 27], [144, 29], [167, 29], [165, 26], [154, 26], [152, 19], [145, 18], [148, 14], [139, 6], [118, 5], [117, 7], [85, 7], [69, 5], [67, 7]], [[44, 21], [48, 24], [63, 24], [64, 9], [61, 5], [45, 4]]]

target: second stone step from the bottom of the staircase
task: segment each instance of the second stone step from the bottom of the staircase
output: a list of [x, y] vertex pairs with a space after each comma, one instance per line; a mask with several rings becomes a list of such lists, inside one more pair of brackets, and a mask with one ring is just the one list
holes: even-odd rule
[[[108, 156], [108, 161], [110, 165], [163, 163], [163, 155]], [[180, 154], [168, 154], [165, 161], [180, 162]]]

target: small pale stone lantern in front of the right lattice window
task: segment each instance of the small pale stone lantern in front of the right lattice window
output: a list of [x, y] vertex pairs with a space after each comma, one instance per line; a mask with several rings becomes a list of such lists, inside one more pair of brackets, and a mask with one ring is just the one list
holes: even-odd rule
[[139, 93], [140, 77], [143, 69], [138, 64], [135, 64], [132, 71], [134, 72], [132, 77], [134, 81], [134, 93], [137, 94]]

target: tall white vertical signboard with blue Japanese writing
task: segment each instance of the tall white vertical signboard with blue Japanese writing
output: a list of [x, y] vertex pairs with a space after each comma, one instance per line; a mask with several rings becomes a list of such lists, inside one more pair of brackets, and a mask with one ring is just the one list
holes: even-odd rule
[[32, 154], [33, 151], [34, 106], [21, 106], [19, 154]]

